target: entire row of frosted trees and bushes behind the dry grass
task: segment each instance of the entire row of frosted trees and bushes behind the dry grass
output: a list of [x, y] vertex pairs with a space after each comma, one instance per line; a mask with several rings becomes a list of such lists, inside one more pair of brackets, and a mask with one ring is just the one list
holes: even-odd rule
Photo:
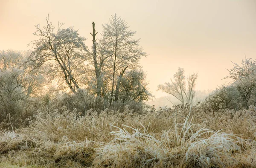
[[[86, 111], [90, 108], [124, 110], [126, 105], [141, 112], [143, 102], [154, 96], [148, 90], [146, 74], [140, 59], [148, 54], [134, 39], [136, 32], [116, 14], [96, 31], [92, 23], [91, 48], [86, 38], [73, 27], [35, 25], [35, 40], [29, 51], [0, 51], [0, 116], [33, 113], [43, 106], [67, 106]], [[186, 78], [178, 68], [171, 82], [160, 84], [158, 90], [177, 98], [181, 107], [195, 98], [197, 73]], [[256, 61], [246, 59], [241, 66], [234, 63], [225, 78], [233, 79], [208, 96], [208, 109], [248, 108], [256, 105]], [[58, 87], [52, 87], [52, 81]]]

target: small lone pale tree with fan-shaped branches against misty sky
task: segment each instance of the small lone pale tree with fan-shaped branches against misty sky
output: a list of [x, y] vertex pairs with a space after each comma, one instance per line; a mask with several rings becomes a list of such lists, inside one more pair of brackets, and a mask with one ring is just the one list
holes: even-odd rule
[[195, 81], [198, 78], [198, 75], [193, 73], [186, 81], [184, 73], [184, 69], [179, 67], [178, 71], [173, 75], [171, 83], [160, 84], [157, 87], [158, 90], [162, 90], [177, 98], [183, 106], [185, 103], [192, 104], [193, 98], [195, 97]]

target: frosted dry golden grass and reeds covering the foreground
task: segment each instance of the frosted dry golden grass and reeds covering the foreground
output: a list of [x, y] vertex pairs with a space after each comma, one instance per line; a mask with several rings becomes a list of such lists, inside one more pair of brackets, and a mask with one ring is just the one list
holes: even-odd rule
[[[256, 111], [201, 107], [143, 115], [38, 110], [29, 127], [0, 131], [9, 167], [256, 167]], [[14, 167], [15, 167], [14, 166]]]

